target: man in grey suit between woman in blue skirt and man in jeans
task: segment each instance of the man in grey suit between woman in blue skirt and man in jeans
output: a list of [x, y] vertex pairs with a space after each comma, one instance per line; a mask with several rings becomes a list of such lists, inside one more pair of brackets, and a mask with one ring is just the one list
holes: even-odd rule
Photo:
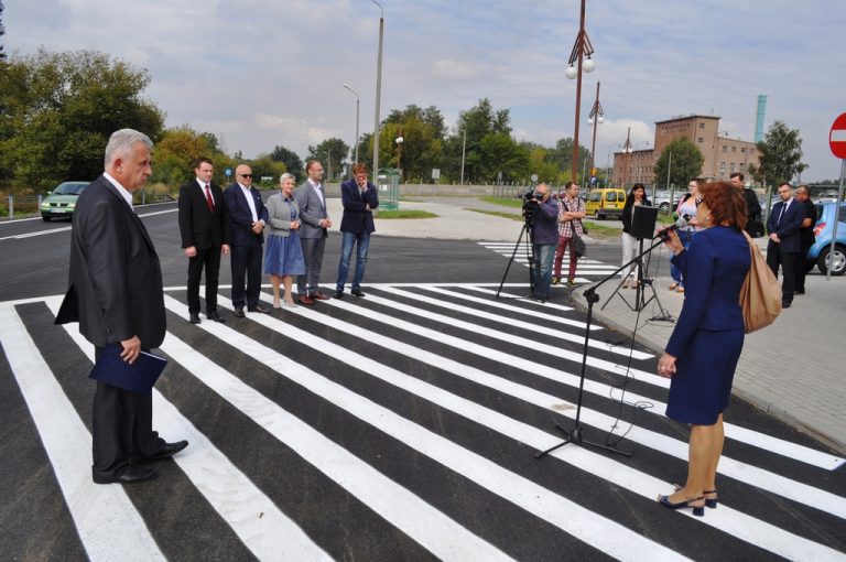
[[332, 226], [326, 213], [326, 192], [323, 186], [323, 165], [316, 160], [305, 164], [308, 177], [294, 193], [300, 206], [300, 244], [305, 260], [305, 275], [296, 278], [296, 292], [300, 303], [314, 304], [314, 300], [326, 300], [328, 296], [321, 292], [321, 268], [323, 251], [326, 247], [328, 228]]

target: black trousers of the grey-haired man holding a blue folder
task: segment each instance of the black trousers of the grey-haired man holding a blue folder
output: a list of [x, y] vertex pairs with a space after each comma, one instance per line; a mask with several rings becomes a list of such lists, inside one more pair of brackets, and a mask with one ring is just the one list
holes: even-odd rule
[[[97, 348], [95, 357], [99, 356]], [[132, 457], [154, 456], [164, 440], [153, 431], [152, 392], [130, 392], [97, 381], [91, 437], [91, 472], [97, 476], [119, 476]]]

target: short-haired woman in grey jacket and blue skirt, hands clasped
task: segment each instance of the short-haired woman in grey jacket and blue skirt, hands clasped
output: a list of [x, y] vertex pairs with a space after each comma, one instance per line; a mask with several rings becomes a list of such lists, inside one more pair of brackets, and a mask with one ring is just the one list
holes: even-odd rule
[[[279, 193], [268, 198], [268, 244], [264, 251], [264, 273], [273, 285], [273, 307], [296, 307], [291, 285], [294, 275], [305, 274], [303, 250], [300, 247], [300, 206], [294, 201], [294, 176], [284, 173], [279, 179]], [[284, 300], [279, 287], [284, 287]]]

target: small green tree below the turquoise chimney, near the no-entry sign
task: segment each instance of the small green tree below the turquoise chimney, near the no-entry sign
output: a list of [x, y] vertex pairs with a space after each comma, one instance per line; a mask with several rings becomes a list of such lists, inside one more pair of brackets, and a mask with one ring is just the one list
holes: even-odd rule
[[802, 137], [799, 129], [791, 129], [783, 121], [776, 121], [767, 130], [763, 140], [756, 144], [760, 165], [749, 165], [749, 172], [759, 183], [770, 185], [790, 182], [807, 167], [802, 163]]

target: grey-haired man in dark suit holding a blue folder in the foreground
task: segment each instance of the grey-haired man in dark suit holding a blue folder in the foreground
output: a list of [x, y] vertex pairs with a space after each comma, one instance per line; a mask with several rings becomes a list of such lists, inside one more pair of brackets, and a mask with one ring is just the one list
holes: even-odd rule
[[[124, 361], [161, 345], [165, 333], [159, 256], [132, 208], [132, 193], [147, 183], [150, 139], [132, 129], [115, 132], [106, 171], [79, 196], [70, 233], [69, 289], [56, 324], [79, 322], [96, 347], [120, 346]], [[167, 458], [188, 445], [165, 443], [152, 430], [152, 392], [130, 392], [97, 381], [91, 423], [97, 484], [133, 484], [159, 473], [139, 464]]]

